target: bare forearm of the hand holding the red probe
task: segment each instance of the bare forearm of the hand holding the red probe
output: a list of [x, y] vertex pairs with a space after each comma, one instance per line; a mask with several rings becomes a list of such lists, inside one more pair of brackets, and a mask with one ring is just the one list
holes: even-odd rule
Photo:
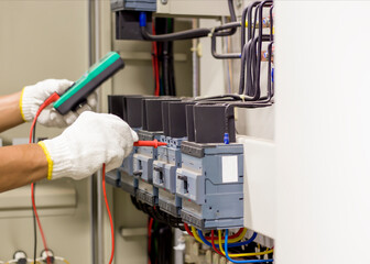
[[47, 160], [37, 144], [0, 147], [0, 193], [47, 177]]

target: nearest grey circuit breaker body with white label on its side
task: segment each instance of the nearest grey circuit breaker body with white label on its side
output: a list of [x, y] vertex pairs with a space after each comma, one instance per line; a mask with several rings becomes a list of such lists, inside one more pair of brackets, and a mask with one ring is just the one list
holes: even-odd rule
[[176, 194], [181, 217], [198, 229], [243, 227], [242, 144], [182, 143]]

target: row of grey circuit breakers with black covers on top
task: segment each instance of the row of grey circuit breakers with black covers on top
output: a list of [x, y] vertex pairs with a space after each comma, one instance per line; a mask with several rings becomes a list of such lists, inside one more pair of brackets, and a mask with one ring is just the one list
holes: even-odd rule
[[[135, 146], [107, 182], [195, 228], [243, 226], [243, 146], [226, 107], [168, 97], [109, 96], [109, 112], [137, 131]], [[224, 143], [228, 127], [229, 144]]]

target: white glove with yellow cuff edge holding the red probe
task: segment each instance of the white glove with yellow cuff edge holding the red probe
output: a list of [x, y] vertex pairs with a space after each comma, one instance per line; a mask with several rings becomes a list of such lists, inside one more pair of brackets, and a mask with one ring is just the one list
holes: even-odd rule
[[119, 167], [138, 140], [138, 134], [120, 118], [86, 111], [59, 136], [39, 144], [47, 157], [48, 179], [81, 179], [104, 163], [107, 172]]

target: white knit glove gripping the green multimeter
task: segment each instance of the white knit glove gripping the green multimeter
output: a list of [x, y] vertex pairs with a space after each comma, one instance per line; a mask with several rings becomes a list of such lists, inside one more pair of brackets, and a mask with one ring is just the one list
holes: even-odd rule
[[[73, 84], [73, 81], [66, 79], [46, 79], [33, 86], [24, 87], [20, 99], [23, 120], [26, 122], [32, 121], [40, 106], [54, 92], [63, 95]], [[67, 114], [62, 116], [51, 105], [41, 112], [37, 122], [46, 127], [65, 128], [75, 122], [79, 113], [85, 110], [94, 110], [96, 106], [97, 96], [94, 92], [87, 98], [87, 103], [78, 109], [77, 112], [69, 111]]]

